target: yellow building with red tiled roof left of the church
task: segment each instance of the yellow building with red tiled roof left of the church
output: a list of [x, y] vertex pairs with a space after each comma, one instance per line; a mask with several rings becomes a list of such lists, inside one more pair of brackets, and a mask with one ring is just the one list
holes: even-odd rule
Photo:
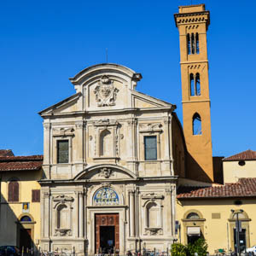
[[42, 165], [43, 155], [15, 156], [0, 150], [0, 246], [38, 248]]

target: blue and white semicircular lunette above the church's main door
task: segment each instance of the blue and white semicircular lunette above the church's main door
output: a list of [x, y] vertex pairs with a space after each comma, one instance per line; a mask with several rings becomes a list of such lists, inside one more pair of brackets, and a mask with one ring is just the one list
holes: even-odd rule
[[102, 188], [96, 192], [93, 201], [96, 206], [119, 205], [119, 196], [111, 188]]

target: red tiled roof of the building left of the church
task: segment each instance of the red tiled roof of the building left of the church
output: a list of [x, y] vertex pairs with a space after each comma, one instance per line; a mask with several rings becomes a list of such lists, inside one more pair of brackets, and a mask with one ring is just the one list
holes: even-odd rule
[[0, 156], [0, 172], [39, 170], [43, 165], [43, 155]]

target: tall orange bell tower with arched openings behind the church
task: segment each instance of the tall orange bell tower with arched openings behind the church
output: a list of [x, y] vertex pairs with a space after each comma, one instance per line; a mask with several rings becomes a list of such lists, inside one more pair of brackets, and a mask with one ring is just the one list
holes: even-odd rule
[[188, 149], [187, 177], [213, 181], [212, 132], [204, 4], [180, 6], [174, 15], [179, 32], [183, 131]]

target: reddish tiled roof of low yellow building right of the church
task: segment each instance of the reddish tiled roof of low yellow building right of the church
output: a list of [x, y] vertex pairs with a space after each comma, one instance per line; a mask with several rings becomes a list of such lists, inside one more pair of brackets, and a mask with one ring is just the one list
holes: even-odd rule
[[[185, 189], [189, 189], [187, 192]], [[256, 197], [256, 177], [242, 177], [237, 183], [207, 188], [181, 187], [177, 189], [177, 199], [204, 199], [225, 197]]]

